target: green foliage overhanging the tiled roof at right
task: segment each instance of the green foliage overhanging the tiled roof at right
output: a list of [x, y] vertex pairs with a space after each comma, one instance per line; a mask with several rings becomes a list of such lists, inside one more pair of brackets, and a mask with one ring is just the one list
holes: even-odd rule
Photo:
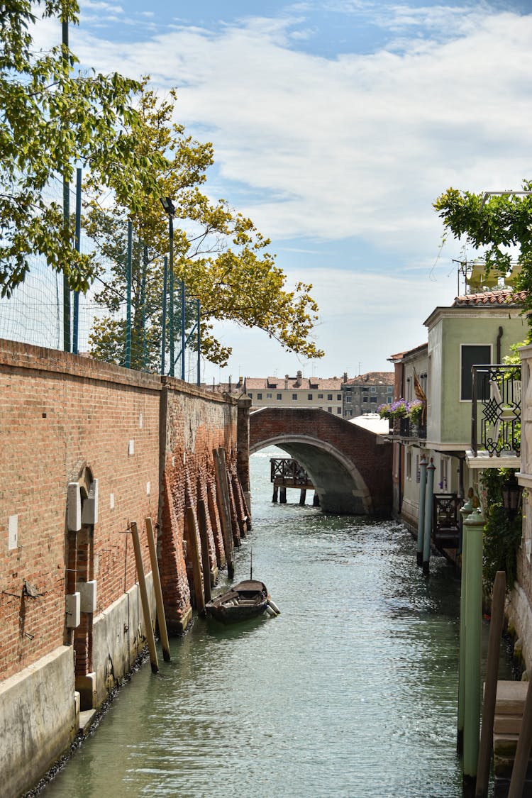
[[[513, 271], [516, 290], [526, 291], [524, 313], [532, 324], [532, 182], [523, 181], [522, 192], [501, 196], [459, 192], [448, 188], [434, 207], [447, 231], [455, 239], [467, 236], [476, 250], [486, 247], [483, 258], [487, 273], [506, 277]], [[517, 267], [513, 262], [517, 258]]]

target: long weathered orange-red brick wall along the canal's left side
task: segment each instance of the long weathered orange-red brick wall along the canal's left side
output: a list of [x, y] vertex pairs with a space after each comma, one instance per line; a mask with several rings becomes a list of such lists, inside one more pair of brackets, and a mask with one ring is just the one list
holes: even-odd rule
[[[223, 446], [234, 469], [236, 425], [234, 401], [180, 381], [0, 341], [0, 678], [73, 642], [65, 593], [73, 587], [69, 535], [76, 535], [67, 530], [66, 497], [69, 482], [87, 472], [99, 487], [87, 555], [96, 614], [136, 582], [132, 521], [151, 571], [144, 524], [151, 516], [160, 525], [167, 611], [179, 627], [191, 596], [184, 510], [200, 497], [211, 508], [211, 563], [223, 565], [212, 452]], [[36, 597], [26, 595], [25, 580]]]

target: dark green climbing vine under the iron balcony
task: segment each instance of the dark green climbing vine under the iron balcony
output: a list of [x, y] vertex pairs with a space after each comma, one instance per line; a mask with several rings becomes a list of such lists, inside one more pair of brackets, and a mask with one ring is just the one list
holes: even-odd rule
[[514, 517], [502, 506], [502, 485], [510, 475], [509, 468], [487, 468], [481, 476], [483, 508], [486, 523], [483, 538], [483, 583], [491, 594], [497, 571], [506, 571], [506, 585], [511, 588], [517, 578], [517, 551], [521, 543], [522, 512]]

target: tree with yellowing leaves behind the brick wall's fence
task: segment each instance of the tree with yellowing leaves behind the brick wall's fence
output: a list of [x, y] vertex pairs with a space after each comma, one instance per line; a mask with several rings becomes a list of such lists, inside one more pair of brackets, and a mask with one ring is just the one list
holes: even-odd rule
[[[323, 352], [310, 338], [317, 319], [317, 305], [309, 294], [312, 286], [300, 282], [294, 290], [287, 290], [286, 275], [267, 251], [270, 241], [225, 200], [213, 202], [200, 190], [214, 160], [213, 148], [210, 143], [192, 140], [183, 125], [171, 121], [175, 101], [175, 91], [160, 100], [149, 88], [148, 79], [144, 79], [138, 94], [142, 121], [134, 140], [140, 160], [149, 152], [160, 156], [153, 172], [155, 195], [140, 191], [131, 196], [122, 184], [122, 176], [115, 174], [111, 182], [116, 201], [108, 207], [100, 203], [99, 177], [91, 174], [86, 181], [91, 196], [85, 229], [112, 262], [98, 301], [114, 315], [118, 298], [125, 296], [124, 253], [129, 219], [139, 242], [132, 260], [132, 327], [140, 330], [142, 317], [148, 363], [156, 364], [160, 353], [162, 254], [168, 249], [168, 217], [159, 197], [171, 197], [176, 209], [174, 277], [176, 281], [183, 279], [187, 294], [201, 302], [203, 355], [220, 365], [227, 362], [231, 348], [215, 338], [213, 322], [231, 320], [265, 330], [287, 350], [320, 358]], [[143, 254], [144, 246], [148, 256]], [[102, 268], [102, 277], [103, 272]], [[123, 322], [113, 322], [112, 317], [104, 319], [93, 329], [91, 341], [96, 357], [107, 359], [113, 353], [112, 359], [121, 361]]]

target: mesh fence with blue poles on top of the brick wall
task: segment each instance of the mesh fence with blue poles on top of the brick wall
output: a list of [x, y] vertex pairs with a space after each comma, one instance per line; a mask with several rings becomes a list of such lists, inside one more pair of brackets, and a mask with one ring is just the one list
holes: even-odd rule
[[[72, 188], [69, 196], [70, 207], [75, 207]], [[50, 184], [49, 199], [62, 203], [61, 180]], [[95, 255], [97, 276], [85, 294], [69, 292], [66, 302], [63, 275], [53, 271], [44, 257], [33, 256], [25, 281], [10, 298], [0, 298], [0, 338], [199, 384], [199, 301], [168, 274], [167, 259], [148, 252], [138, 241], [133, 243], [142, 255], [136, 268], [130, 269], [128, 282], [128, 253], [115, 261], [108, 259], [81, 229], [79, 251]]]

